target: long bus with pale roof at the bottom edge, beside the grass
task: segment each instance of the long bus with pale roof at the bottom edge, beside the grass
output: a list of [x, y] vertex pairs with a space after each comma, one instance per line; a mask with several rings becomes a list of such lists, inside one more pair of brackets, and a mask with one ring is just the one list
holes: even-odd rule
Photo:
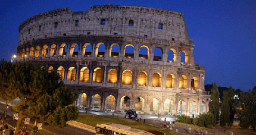
[[95, 130], [96, 135], [154, 135], [147, 131], [131, 128], [127, 125], [114, 123], [97, 124]]

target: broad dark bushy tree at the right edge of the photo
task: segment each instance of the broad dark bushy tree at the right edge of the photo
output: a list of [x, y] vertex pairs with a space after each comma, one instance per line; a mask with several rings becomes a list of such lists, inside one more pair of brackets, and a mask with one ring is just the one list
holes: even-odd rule
[[239, 125], [242, 128], [248, 128], [251, 126], [255, 131], [256, 86], [254, 86], [254, 89], [249, 90], [248, 92], [241, 93], [239, 105], [242, 108], [238, 115], [238, 120], [240, 121]]

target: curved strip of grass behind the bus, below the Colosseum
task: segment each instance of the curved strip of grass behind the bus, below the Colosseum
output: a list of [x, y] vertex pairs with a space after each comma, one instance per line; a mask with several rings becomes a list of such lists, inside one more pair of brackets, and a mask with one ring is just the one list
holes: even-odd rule
[[175, 131], [167, 130], [165, 128], [155, 127], [153, 125], [148, 125], [145, 123], [139, 123], [138, 121], [129, 120], [126, 118], [121, 117], [112, 117], [112, 116], [79, 116], [77, 120], [79, 123], [84, 123], [88, 125], [92, 125], [96, 127], [96, 124], [105, 124], [105, 123], [116, 123], [116, 124], [122, 124], [127, 125], [132, 128], [137, 128], [139, 130], [155, 130], [155, 131], [161, 131], [166, 134], [181, 134], [177, 133]]

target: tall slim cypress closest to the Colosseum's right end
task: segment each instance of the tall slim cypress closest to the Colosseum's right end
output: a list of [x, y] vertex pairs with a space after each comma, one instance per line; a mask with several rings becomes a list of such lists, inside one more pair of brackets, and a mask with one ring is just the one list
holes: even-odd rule
[[211, 114], [214, 115], [215, 124], [218, 124], [218, 117], [220, 114], [220, 112], [218, 111], [219, 95], [220, 95], [220, 93], [218, 93], [217, 84], [214, 82], [213, 89], [211, 89], [211, 97], [210, 97], [211, 101], [210, 101], [209, 111]]

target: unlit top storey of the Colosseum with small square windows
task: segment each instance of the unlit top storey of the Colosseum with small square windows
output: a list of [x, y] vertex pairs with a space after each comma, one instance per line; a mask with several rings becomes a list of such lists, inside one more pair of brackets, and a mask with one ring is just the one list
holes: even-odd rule
[[70, 8], [43, 12], [19, 27], [19, 44], [48, 37], [118, 35], [174, 40], [192, 44], [181, 12], [126, 5], [91, 5], [89, 11]]

